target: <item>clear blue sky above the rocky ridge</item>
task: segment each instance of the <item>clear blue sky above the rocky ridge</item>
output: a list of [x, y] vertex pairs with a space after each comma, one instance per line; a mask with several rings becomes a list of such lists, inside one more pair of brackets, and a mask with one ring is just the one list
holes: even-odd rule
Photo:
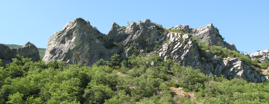
[[254, 53], [269, 49], [269, 0], [1, 0], [0, 43], [46, 48], [48, 39], [75, 18], [88, 20], [107, 34], [113, 22], [150, 19], [169, 28], [213, 23], [237, 50]]

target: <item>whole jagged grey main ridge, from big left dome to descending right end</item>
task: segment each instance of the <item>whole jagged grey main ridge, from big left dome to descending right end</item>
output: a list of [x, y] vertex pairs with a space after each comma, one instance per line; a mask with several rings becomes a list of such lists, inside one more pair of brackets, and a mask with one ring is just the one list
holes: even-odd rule
[[235, 46], [223, 41], [218, 29], [212, 24], [198, 29], [188, 25], [178, 25], [184, 33], [165, 31], [146, 19], [132, 22], [127, 27], [113, 23], [107, 35], [100, 33], [82, 18], [67, 23], [62, 31], [55, 32], [48, 41], [44, 61], [67, 61], [69, 64], [85, 63], [92, 65], [99, 59], [109, 60], [114, 54], [124, 59], [132, 54], [155, 51], [163, 59], [172, 59], [183, 65], [201, 69], [205, 74], [230, 75], [243, 78], [248, 82], [263, 82], [255, 70], [237, 58], [224, 58], [209, 51], [198, 51], [190, 37], [198, 38], [208, 45], [218, 45], [235, 50]]

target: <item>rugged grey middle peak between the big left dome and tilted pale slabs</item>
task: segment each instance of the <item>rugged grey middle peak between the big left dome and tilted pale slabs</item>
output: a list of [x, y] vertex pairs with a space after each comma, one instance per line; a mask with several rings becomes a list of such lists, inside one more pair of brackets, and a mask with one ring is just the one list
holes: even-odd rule
[[[161, 36], [161, 33], [158, 31], [154, 23], [149, 20], [143, 20], [137, 23], [132, 22], [126, 29], [119, 31], [119, 34], [121, 33], [125, 33], [125, 37], [123, 40], [118, 41], [122, 43], [122, 45], [115, 49], [120, 50], [118, 52], [123, 57], [129, 57], [134, 53], [137, 54], [140, 52], [151, 52], [157, 50], [158, 48], [155, 48], [155, 45], [161, 46], [164, 38]], [[118, 33], [110, 34], [109, 32], [108, 37], [111, 35], [115, 36], [117, 34]], [[108, 40], [114, 40], [114, 38], [118, 37], [111, 37]]]

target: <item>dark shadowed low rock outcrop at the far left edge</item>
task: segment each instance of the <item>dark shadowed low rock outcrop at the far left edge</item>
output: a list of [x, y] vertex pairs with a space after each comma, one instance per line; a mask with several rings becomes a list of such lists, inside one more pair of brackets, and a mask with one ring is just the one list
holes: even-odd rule
[[12, 58], [16, 58], [16, 55], [24, 56], [24, 58], [32, 58], [32, 61], [37, 62], [40, 60], [39, 51], [35, 45], [27, 42], [25, 45], [19, 48], [10, 49], [8, 46], [0, 44], [0, 59], [3, 59], [3, 64], [10, 64]]

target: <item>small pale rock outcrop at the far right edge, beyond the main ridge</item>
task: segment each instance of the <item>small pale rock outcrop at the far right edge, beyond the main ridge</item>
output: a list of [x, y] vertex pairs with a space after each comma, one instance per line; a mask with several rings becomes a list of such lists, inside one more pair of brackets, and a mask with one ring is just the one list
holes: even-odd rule
[[261, 62], [265, 62], [269, 59], [269, 51], [263, 50], [255, 53], [250, 53], [249, 56], [251, 57], [251, 60], [254, 61], [255, 58], [259, 59]]

